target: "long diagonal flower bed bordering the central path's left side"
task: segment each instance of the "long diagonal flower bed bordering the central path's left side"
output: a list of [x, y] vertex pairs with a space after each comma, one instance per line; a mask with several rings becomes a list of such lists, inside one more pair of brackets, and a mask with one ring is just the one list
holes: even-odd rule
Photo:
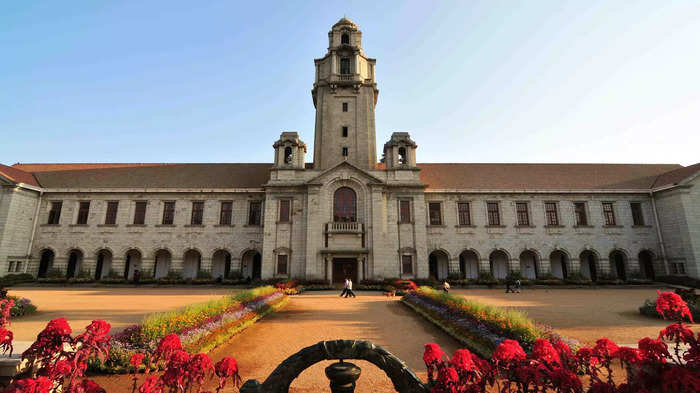
[[[109, 359], [91, 362], [93, 371], [125, 373], [134, 353], [152, 353], [159, 340], [177, 335], [187, 352], [209, 352], [265, 315], [282, 307], [287, 296], [271, 286], [158, 313], [124, 329], [110, 341]], [[147, 364], [150, 364], [147, 362]]]

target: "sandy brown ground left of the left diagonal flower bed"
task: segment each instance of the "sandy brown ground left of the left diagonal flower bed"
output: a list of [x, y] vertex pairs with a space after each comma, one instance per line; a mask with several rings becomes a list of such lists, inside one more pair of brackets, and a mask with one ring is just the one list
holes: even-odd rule
[[236, 291], [231, 288], [40, 288], [12, 287], [10, 295], [26, 297], [38, 307], [35, 314], [12, 320], [17, 341], [34, 341], [54, 318], [65, 317], [74, 332], [93, 319], [104, 319], [112, 332], [138, 323], [145, 315], [200, 303]]

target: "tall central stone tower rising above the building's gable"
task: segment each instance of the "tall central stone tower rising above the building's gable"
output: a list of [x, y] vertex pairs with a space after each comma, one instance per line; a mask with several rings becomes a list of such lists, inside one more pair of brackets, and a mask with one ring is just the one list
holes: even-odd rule
[[347, 160], [365, 170], [377, 163], [375, 59], [362, 51], [362, 32], [342, 18], [328, 32], [328, 52], [314, 60], [314, 169]]

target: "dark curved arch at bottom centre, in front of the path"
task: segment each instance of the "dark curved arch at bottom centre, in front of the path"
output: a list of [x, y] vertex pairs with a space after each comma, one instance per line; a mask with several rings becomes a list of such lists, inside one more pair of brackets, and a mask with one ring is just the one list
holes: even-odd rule
[[399, 393], [428, 393], [428, 388], [401, 359], [369, 341], [357, 340], [321, 341], [306, 347], [280, 363], [262, 384], [248, 380], [241, 393], [287, 393], [292, 382], [307, 368], [324, 360], [346, 359], [366, 360], [379, 367]]

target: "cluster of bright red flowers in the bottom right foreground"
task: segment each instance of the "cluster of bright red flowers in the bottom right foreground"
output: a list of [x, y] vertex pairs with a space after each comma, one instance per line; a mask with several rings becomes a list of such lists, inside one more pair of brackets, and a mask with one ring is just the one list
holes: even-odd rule
[[[700, 391], [700, 334], [683, 325], [688, 307], [671, 292], [660, 293], [658, 311], [679, 321], [659, 337], [639, 340], [637, 348], [607, 338], [574, 350], [562, 341], [538, 338], [527, 354], [515, 340], [504, 340], [493, 355], [480, 358], [458, 349], [448, 358], [434, 343], [425, 345], [431, 393], [695, 393]], [[669, 350], [669, 344], [673, 350]], [[620, 362], [624, 377], [613, 375]]]

